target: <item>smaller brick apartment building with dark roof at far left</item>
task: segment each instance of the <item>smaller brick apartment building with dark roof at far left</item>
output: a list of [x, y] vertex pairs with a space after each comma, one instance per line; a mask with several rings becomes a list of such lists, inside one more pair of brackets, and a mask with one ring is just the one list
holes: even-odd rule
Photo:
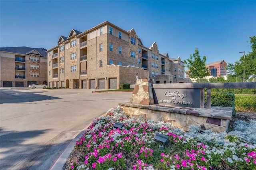
[[47, 83], [47, 53], [44, 48], [1, 47], [1, 87], [28, 87]]

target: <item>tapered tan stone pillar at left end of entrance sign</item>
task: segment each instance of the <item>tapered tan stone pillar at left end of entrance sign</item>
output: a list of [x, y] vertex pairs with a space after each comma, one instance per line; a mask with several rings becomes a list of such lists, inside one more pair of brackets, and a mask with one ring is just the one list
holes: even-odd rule
[[155, 104], [150, 79], [136, 80], [130, 103], [140, 105]]

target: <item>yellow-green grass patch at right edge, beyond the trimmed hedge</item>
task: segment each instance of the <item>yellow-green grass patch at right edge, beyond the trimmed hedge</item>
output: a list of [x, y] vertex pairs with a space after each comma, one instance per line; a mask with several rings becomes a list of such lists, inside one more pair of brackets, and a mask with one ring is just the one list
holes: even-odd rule
[[256, 95], [235, 95], [236, 111], [256, 112]]

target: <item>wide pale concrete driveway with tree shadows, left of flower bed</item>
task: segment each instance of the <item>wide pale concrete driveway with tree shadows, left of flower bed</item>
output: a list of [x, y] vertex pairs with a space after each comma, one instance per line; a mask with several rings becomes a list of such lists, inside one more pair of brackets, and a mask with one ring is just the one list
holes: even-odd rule
[[132, 92], [0, 89], [0, 169], [50, 169], [95, 118]]

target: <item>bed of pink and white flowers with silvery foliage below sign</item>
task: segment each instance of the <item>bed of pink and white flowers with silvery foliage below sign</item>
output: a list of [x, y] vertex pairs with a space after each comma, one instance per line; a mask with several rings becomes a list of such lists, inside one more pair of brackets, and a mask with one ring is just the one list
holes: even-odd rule
[[[123, 123], [124, 128], [114, 128], [116, 122]], [[120, 107], [115, 107], [105, 117], [92, 122], [76, 142], [74, 150], [80, 155], [76, 160], [70, 157], [66, 167], [80, 170], [253, 170], [256, 169], [255, 129], [256, 122], [250, 121], [240, 122], [229, 134], [196, 126], [184, 132], [168, 123], [127, 118]], [[159, 144], [154, 141], [156, 133], [169, 136], [164, 151], [158, 150]]]

